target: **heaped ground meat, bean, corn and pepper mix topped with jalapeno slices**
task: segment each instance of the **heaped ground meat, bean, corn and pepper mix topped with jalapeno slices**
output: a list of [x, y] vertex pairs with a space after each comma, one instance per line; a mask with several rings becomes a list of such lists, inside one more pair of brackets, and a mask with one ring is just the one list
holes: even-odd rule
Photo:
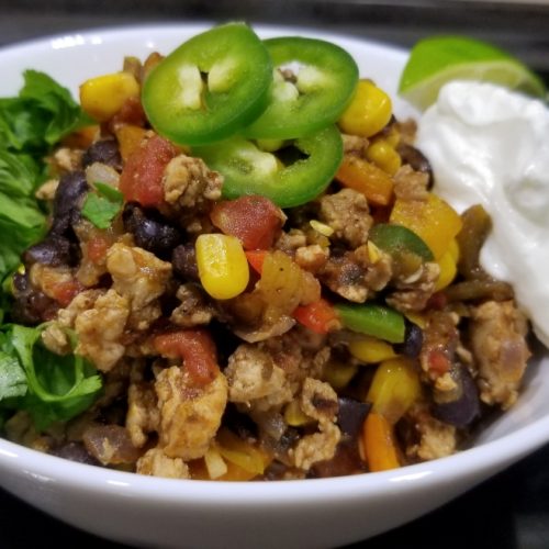
[[[280, 41], [296, 41], [269, 53], [245, 25], [195, 40], [224, 33], [274, 64]], [[245, 79], [251, 96], [217, 111], [213, 133], [204, 98], [244, 69], [209, 67], [212, 83], [192, 41], [85, 82], [100, 124], [82, 126], [64, 98], [78, 130], [49, 156], [48, 231], [13, 278], [7, 314], [21, 324], [2, 339], [2, 404], [21, 408], [11, 439], [143, 474], [302, 479], [447, 456], [486, 410], [513, 404], [527, 321], [480, 266], [489, 215], [458, 215], [432, 191], [414, 124], [345, 52], [298, 42], [337, 53], [348, 78], [326, 78], [330, 55], [301, 81], [287, 58], [266, 82], [259, 67], [262, 83], [251, 93]], [[181, 109], [178, 89], [155, 99], [169, 63], [192, 82], [192, 120], [176, 130], [170, 110], [149, 120]], [[269, 120], [325, 82], [338, 93], [321, 122]]]

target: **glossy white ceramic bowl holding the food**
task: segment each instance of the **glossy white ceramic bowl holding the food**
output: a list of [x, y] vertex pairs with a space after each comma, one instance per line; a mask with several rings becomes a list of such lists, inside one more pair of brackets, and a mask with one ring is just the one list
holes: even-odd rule
[[[120, 69], [124, 55], [168, 53], [203, 29], [93, 31], [5, 48], [0, 97], [19, 90], [25, 68], [45, 70], [76, 92], [86, 78]], [[350, 52], [362, 76], [395, 96], [405, 52], [322, 36]], [[395, 100], [397, 114], [406, 109]], [[135, 546], [336, 547], [425, 514], [549, 441], [548, 362], [547, 356], [533, 361], [517, 405], [488, 425], [471, 449], [400, 470], [285, 482], [176, 481], [72, 463], [0, 440], [0, 483], [71, 525]]]

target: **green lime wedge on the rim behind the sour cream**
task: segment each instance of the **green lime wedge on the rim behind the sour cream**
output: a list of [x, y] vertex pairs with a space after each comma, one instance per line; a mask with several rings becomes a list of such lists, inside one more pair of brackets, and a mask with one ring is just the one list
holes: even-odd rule
[[474, 38], [434, 36], [413, 48], [399, 83], [403, 99], [425, 110], [450, 80], [498, 83], [524, 93], [545, 97], [542, 80], [512, 55]]

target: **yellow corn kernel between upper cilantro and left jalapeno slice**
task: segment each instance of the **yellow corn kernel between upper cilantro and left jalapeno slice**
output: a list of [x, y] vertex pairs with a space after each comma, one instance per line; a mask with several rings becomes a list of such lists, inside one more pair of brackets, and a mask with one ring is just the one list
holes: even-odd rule
[[80, 86], [82, 109], [99, 122], [109, 120], [127, 99], [138, 96], [139, 83], [130, 72], [98, 76]]

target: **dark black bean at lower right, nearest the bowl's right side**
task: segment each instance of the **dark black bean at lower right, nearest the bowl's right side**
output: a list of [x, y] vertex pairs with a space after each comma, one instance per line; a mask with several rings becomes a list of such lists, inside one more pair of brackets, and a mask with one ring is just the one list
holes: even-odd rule
[[464, 366], [456, 365], [451, 370], [451, 376], [458, 385], [457, 390], [452, 391], [449, 400], [445, 399], [444, 401], [439, 392], [435, 393], [433, 415], [456, 427], [467, 427], [480, 415], [479, 390]]

